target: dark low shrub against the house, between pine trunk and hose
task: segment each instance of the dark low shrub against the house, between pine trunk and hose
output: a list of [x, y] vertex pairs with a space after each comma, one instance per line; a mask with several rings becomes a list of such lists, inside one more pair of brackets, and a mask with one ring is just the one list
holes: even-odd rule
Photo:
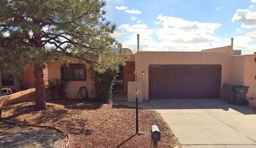
[[67, 81], [61, 81], [60, 79], [53, 78], [49, 80], [48, 91], [52, 99], [66, 99], [66, 87]]

